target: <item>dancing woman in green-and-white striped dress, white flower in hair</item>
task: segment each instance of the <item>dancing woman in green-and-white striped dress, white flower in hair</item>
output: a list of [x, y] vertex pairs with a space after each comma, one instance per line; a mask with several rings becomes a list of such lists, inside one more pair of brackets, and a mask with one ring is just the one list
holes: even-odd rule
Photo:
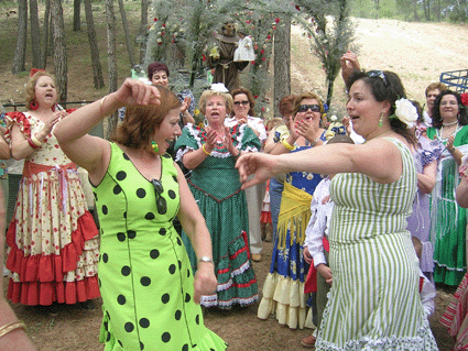
[[418, 296], [418, 261], [406, 218], [416, 191], [407, 144], [416, 112], [391, 72], [356, 72], [347, 110], [361, 145], [290, 155], [246, 155], [243, 187], [280, 172], [334, 174], [329, 231], [334, 281], [316, 350], [437, 350]]

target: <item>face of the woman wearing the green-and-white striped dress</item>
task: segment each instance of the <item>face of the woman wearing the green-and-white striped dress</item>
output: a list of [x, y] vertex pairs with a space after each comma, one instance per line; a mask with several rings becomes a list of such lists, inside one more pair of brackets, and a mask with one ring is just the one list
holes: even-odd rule
[[362, 79], [355, 81], [349, 89], [346, 105], [352, 129], [364, 139], [370, 139], [379, 127], [380, 117], [388, 112], [388, 101], [377, 101], [370, 86]]

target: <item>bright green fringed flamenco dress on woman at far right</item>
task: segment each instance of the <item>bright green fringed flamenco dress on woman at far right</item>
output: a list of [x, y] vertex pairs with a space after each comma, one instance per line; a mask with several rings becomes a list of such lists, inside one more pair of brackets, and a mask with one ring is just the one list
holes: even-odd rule
[[[468, 152], [468, 125], [456, 130], [454, 146]], [[444, 145], [440, 130], [427, 129], [428, 139], [437, 138]], [[458, 165], [444, 150], [437, 171], [437, 180], [431, 194], [431, 240], [434, 243], [434, 282], [458, 285], [466, 271], [467, 210], [457, 205], [455, 190], [460, 182]]]

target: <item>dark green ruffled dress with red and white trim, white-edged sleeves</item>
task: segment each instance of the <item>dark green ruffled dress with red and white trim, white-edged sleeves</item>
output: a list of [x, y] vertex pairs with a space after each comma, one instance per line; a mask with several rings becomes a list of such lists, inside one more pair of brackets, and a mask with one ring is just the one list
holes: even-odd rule
[[[236, 124], [230, 131], [236, 149], [247, 152], [260, 150], [259, 138], [246, 124]], [[198, 150], [205, 143], [206, 131], [188, 124], [175, 144], [176, 160], [182, 160], [186, 152]], [[257, 278], [250, 262], [246, 194], [240, 189], [236, 161], [222, 144], [216, 144], [211, 154], [193, 169], [188, 179], [211, 234], [218, 278], [217, 294], [202, 296], [200, 304], [205, 307], [230, 309], [233, 305], [252, 305], [259, 298]], [[182, 238], [195, 272], [197, 257], [184, 232]]]

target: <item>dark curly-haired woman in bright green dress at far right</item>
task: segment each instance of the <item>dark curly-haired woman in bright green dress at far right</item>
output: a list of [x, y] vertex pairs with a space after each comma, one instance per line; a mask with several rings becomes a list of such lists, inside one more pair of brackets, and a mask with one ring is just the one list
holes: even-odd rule
[[458, 167], [468, 152], [468, 112], [456, 91], [444, 90], [434, 102], [428, 139], [445, 145], [432, 193], [431, 238], [434, 248], [434, 282], [458, 285], [466, 271], [467, 211], [455, 199]]

